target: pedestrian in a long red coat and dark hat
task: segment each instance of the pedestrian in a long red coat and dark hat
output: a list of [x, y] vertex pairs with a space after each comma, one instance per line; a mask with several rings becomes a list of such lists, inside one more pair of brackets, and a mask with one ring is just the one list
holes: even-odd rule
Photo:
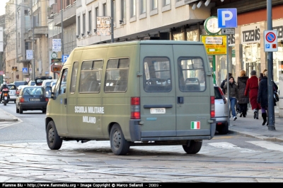
[[258, 110], [260, 109], [260, 104], [258, 104], [258, 77], [255, 75], [256, 71], [252, 70], [250, 72], [250, 78], [247, 80], [245, 96], [249, 96], [250, 105], [253, 110], [253, 118], [258, 119]]

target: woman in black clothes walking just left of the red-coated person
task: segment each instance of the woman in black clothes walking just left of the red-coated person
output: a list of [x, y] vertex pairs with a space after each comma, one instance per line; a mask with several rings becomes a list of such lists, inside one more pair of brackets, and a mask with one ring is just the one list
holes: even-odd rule
[[241, 70], [240, 77], [237, 79], [237, 86], [238, 86], [238, 106], [240, 117], [246, 118], [247, 109], [249, 99], [248, 96], [245, 96], [246, 84], [247, 84], [248, 77], [246, 76], [246, 71]]

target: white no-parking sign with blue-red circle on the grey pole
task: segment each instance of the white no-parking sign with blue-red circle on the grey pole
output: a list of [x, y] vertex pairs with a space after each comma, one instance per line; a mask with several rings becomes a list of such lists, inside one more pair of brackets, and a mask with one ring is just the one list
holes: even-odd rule
[[263, 31], [265, 39], [265, 52], [277, 52], [277, 30], [266, 30]]

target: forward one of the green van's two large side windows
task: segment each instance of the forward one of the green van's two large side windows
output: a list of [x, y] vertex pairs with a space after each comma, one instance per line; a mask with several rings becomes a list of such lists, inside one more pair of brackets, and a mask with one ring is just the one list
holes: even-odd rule
[[80, 93], [100, 92], [103, 60], [89, 60], [81, 64]]

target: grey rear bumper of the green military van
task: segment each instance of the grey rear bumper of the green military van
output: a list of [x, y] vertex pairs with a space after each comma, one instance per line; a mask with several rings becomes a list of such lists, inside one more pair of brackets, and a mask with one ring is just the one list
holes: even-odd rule
[[131, 141], [172, 141], [172, 140], [210, 140], [214, 137], [216, 123], [210, 123], [210, 129], [182, 131], [141, 131], [140, 120], [129, 121]]

